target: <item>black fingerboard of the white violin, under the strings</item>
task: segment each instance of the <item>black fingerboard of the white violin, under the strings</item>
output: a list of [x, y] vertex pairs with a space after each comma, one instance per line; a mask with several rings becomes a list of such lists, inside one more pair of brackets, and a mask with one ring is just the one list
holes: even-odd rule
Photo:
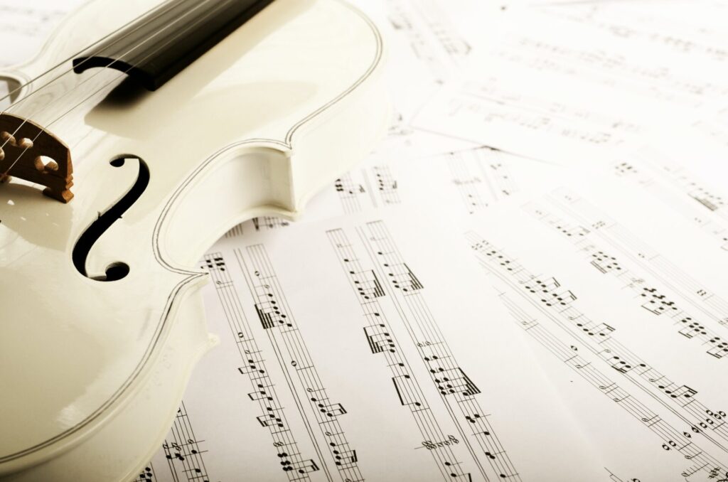
[[274, 0], [169, 0], [74, 59], [123, 71], [157, 90]]

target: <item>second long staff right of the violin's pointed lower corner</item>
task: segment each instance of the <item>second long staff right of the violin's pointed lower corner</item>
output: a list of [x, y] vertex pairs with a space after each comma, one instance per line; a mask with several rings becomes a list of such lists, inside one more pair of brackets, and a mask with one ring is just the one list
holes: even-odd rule
[[291, 381], [296, 379], [301, 387], [300, 390], [294, 390], [298, 406], [308, 405], [314, 414], [314, 420], [326, 440], [326, 447], [334, 460], [341, 481], [363, 481], [355, 451], [349, 446], [339, 422], [339, 418], [347, 414], [347, 411], [341, 403], [330, 400], [328, 390], [298, 329], [266, 249], [263, 245], [253, 245], [244, 251], [236, 250], [235, 253], [245, 274], [250, 293], [256, 300], [255, 309], [258, 317], [264, 325], [269, 340], [278, 347], [277, 362], [288, 374], [289, 386], [293, 386]]

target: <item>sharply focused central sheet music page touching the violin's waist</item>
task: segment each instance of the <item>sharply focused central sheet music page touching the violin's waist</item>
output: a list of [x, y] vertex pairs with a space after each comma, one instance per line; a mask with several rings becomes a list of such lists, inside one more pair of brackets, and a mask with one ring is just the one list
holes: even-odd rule
[[[195, 437], [170, 432], [155, 480], [522, 481], [543, 467], [606, 480], [467, 250], [432, 263], [421, 242], [459, 238], [381, 213], [289, 226], [285, 242], [243, 234], [205, 257], [222, 343], [184, 401]], [[518, 383], [493, 369], [504, 364]]]

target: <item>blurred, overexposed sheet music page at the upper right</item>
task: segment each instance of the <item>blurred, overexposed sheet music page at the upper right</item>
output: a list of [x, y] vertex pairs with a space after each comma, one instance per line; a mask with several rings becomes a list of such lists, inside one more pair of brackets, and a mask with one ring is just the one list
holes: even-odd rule
[[711, 18], [724, 7], [699, 3], [697, 16], [695, 2], [681, 1], [507, 9], [498, 28], [479, 37], [464, 76], [413, 125], [571, 165], [603, 160], [653, 133], [663, 143], [705, 142], [689, 134], [691, 123], [719, 142], [708, 119], [728, 92], [715, 74], [726, 60], [726, 33]]

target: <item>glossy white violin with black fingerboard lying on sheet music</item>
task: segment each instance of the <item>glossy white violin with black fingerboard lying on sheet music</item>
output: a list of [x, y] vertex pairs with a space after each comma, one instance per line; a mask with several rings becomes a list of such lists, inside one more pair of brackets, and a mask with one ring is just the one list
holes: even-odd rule
[[339, 0], [91, 0], [0, 73], [0, 479], [119, 481], [215, 344], [197, 261], [296, 219], [387, 128]]

